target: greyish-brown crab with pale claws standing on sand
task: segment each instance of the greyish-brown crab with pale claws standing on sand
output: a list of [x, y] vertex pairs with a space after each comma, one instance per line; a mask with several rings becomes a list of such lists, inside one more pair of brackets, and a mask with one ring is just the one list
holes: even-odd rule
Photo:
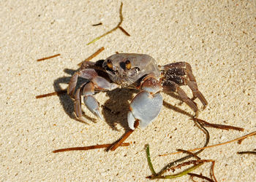
[[[83, 81], [78, 84], [78, 78]], [[189, 98], [180, 86], [187, 85], [192, 90]], [[198, 98], [205, 107], [206, 98], [198, 90], [195, 76], [189, 63], [169, 63], [158, 66], [150, 55], [118, 53], [97, 62], [86, 61], [80, 66], [69, 81], [68, 95], [74, 99], [75, 116], [84, 121], [81, 109], [81, 96], [89, 111], [104, 120], [99, 111], [99, 103], [94, 98], [96, 92], [130, 88], [139, 90], [129, 104], [127, 115], [128, 126], [135, 130], [135, 122], [145, 128], [157, 118], [162, 108], [161, 92], [176, 92], [184, 103], [197, 113], [193, 101]]]

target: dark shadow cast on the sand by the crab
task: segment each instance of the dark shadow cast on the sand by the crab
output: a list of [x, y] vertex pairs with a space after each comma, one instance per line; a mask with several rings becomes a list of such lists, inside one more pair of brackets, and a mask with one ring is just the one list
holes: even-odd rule
[[[75, 71], [78, 71], [78, 70], [72, 70], [68, 68], [64, 69], [64, 72], [66, 74], [69, 74], [70, 76], [63, 76], [54, 80], [53, 82], [54, 90], [56, 92], [58, 92], [59, 90], [63, 90], [61, 88], [61, 84], [69, 84], [69, 80], [71, 79], [71, 76], [75, 74]], [[106, 96], [108, 97], [108, 100], [106, 100], [105, 103], [99, 103], [99, 105], [102, 106], [102, 114], [105, 118], [105, 122], [111, 127], [112, 130], [120, 130], [118, 129], [120, 128], [118, 127], [118, 125], [123, 127], [126, 132], [129, 130], [128, 123], [127, 123], [129, 101], [132, 100], [135, 93], [138, 93], [138, 90], [131, 90], [131, 89], [125, 89], [125, 88], [108, 91], [106, 92]], [[167, 95], [170, 95], [173, 98], [181, 100], [181, 98], [175, 93], [168, 93]], [[74, 114], [73, 100], [69, 97], [69, 95], [67, 95], [67, 92], [64, 94], [60, 94], [58, 96], [59, 96], [61, 105], [64, 108], [65, 113], [70, 117], [70, 119], [75, 119], [75, 121], [77, 122], [82, 122], [76, 118]], [[97, 98], [97, 94], [95, 95], [95, 97]], [[83, 98], [81, 99], [83, 100]], [[173, 106], [170, 103], [167, 103], [165, 100], [163, 102], [163, 106], [165, 106], [166, 108], [169, 108], [170, 110], [192, 117], [192, 114], [189, 114], [187, 111], [184, 111], [181, 108], [178, 108], [176, 106]], [[83, 117], [91, 122], [97, 122], [97, 121], [102, 122], [96, 117], [93, 118], [88, 116], [85, 112], [83, 112]]]

